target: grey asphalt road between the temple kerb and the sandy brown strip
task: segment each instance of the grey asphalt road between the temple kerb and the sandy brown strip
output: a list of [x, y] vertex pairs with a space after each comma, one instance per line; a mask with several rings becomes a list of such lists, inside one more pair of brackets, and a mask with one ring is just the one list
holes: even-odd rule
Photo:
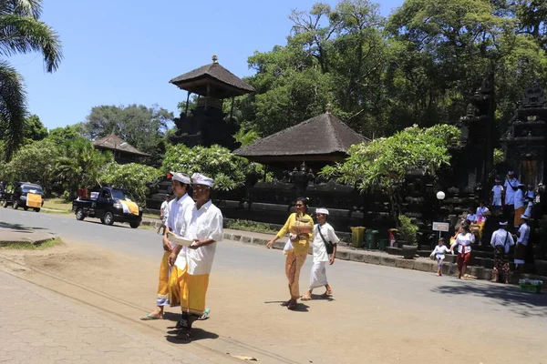
[[[0, 221], [44, 228], [71, 241], [97, 244], [120, 252], [146, 258], [160, 258], [160, 237], [151, 229], [132, 229], [126, 225], [108, 227], [98, 219], [77, 221], [73, 215], [53, 215], [0, 207]], [[307, 287], [312, 259], [306, 259], [301, 276], [301, 290]], [[213, 270], [241, 270], [244, 274], [278, 274], [284, 269], [280, 252], [223, 241], [217, 248]], [[329, 281], [335, 290], [351, 292], [348, 299], [358, 305], [366, 297], [386, 298], [396, 304], [419, 305], [431, 312], [461, 312], [462, 308], [482, 318], [501, 317], [515, 325], [529, 325], [544, 332], [547, 326], [547, 295], [521, 293], [516, 286], [484, 281], [460, 281], [452, 277], [415, 270], [387, 268], [337, 260], [328, 268]], [[249, 277], [249, 276], [248, 276]], [[301, 292], [304, 293], [304, 292]], [[319, 292], [318, 292], [319, 293]]]

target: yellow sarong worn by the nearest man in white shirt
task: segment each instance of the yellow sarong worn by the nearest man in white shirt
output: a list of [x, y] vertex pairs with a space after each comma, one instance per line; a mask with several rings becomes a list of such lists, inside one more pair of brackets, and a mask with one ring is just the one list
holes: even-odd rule
[[184, 269], [171, 268], [170, 274], [170, 306], [181, 303], [183, 312], [202, 315], [205, 310], [205, 296], [209, 287], [209, 275], [193, 276], [188, 274], [188, 266]]

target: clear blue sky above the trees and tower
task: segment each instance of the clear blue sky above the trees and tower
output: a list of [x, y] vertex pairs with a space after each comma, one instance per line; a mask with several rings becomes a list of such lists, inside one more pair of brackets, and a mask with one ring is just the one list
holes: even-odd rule
[[[235, 75], [251, 75], [247, 57], [284, 45], [291, 10], [316, 2], [45, 0], [42, 19], [63, 43], [59, 69], [47, 74], [38, 54], [9, 62], [25, 78], [29, 111], [47, 128], [84, 121], [99, 105], [158, 104], [176, 112], [186, 93], [168, 83], [172, 77], [211, 63], [213, 54]], [[401, 3], [383, 2], [382, 14]]]

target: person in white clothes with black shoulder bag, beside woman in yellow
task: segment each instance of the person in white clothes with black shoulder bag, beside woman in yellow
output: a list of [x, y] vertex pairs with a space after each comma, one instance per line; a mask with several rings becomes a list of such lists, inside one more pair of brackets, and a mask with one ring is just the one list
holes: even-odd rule
[[336, 237], [335, 229], [326, 222], [328, 210], [326, 208], [317, 208], [315, 210], [317, 223], [314, 227], [314, 265], [310, 276], [310, 288], [302, 297], [302, 300], [312, 299], [314, 288], [325, 286], [326, 290], [321, 297], [333, 295], [333, 290], [326, 279], [326, 263], [333, 265], [335, 263], [336, 245], [340, 239]]

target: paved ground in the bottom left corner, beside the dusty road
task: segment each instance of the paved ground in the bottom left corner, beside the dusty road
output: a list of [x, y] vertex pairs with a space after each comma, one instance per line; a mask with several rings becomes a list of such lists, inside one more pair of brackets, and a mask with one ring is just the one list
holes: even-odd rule
[[3, 272], [0, 290], [0, 362], [211, 363]]

